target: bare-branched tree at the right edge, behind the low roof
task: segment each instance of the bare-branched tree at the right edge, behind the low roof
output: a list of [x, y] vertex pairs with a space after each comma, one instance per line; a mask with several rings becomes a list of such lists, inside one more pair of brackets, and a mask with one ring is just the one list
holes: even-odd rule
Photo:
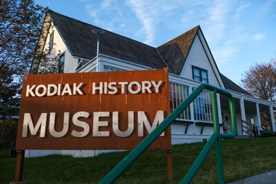
[[242, 86], [260, 99], [276, 101], [276, 62], [255, 63], [244, 74]]

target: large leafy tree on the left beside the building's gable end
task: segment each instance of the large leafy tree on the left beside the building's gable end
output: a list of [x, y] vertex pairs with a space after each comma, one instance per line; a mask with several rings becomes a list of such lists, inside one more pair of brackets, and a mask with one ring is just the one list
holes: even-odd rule
[[[3, 0], [0, 2], [0, 119], [19, 107], [23, 74], [30, 71], [34, 53], [44, 35], [43, 24], [47, 8], [33, 0]], [[48, 59], [48, 52], [39, 59]]]

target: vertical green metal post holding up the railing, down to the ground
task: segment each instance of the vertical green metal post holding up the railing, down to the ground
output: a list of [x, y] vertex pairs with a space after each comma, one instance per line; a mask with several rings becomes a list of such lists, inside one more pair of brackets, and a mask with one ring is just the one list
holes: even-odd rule
[[216, 160], [217, 160], [217, 183], [224, 183], [224, 166], [222, 163], [221, 137], [220, 137], [220, 131], [219, 131], [219, 114], [217, 110], [217, 90], [212, 90], [211, 96], [212, 96], [214, 132], [219, 134], [219, 138], [215, 143], [215, 152], [216, 152]]

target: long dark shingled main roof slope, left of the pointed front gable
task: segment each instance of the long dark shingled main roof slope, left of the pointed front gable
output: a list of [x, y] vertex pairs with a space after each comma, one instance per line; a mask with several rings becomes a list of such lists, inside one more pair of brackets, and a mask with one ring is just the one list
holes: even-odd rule
[[[57, 12], [49, 11], [49, 13], [73, 56], [86, 59], [96, 57], [97, 34], [92, 33], [91, 30], [99, 30], [101, 28], [66, 17]], [[132, 61], [150, 68], [161, 69], [166, 67], [156, 48], [108, 30], [105, 31], [104, 34], [100, 34], [100, 54]]]

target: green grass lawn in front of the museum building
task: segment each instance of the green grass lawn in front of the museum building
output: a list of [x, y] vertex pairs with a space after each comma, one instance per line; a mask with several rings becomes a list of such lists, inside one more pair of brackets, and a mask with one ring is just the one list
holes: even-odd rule
[[[205, 143], [172, 146], [173, 181], [179, 183]], [[276, 137], [222, 141], [225, 182], [276, 169]], [[43, 156], [25, 159], [23, 181], [28, 183], [97, 183], [128, 152], [101, 154], [90, 158]], [[0, 150], [0, 183], [13, 180], [15, 158]], [[168, 183], [166, 152], [147, 151], [117, 183]], [[193, 183], [217, 183], [215, 149], [206, 157]]]

